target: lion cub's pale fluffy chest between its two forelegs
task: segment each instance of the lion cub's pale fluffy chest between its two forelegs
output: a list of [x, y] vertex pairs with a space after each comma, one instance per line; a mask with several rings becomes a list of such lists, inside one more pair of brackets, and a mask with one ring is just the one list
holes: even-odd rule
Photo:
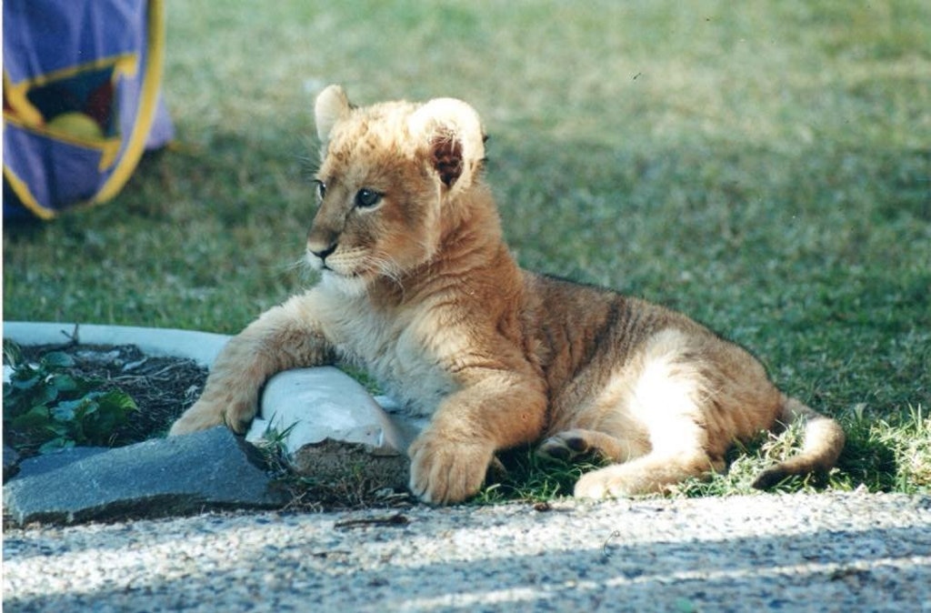
[[374, 376], [412, 415], [428, 416], [457, 386], [443, 366], [445, 347], [438, 331], [427, 319], [344, 306], [343, 317], [332, 318], [325, 327], [345, 361]]

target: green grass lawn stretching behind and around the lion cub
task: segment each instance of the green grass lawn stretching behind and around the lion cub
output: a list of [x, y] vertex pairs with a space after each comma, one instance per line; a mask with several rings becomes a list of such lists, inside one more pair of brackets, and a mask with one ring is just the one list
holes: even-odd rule
[[[5, 226], [5, 319], [236, 333], [313, 280], [295, 263], [317, 91], [455, 96], [491, 134], [523, 266], [674, 306], [749, 347], [848, 429], [830, 487], [931, 489], [924, 0], [167, 13], [177, 146], [105, 206]], [[731, 472], [693, 491], [749, 481]]]

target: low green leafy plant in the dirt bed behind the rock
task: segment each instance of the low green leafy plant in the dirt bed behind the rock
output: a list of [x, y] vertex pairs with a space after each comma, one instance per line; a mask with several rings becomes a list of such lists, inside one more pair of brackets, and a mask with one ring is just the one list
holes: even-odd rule
[[4, 358], [11, 370], [3, 384], [4, 438], [20, 452], [111, 446], [115, 430], [138, 410], [126, 392], [101, 389], [99, 379], [70, 375], [74, 359], [66, 353], [50, 351], [30, 363], [19, 347], [5, 342]]

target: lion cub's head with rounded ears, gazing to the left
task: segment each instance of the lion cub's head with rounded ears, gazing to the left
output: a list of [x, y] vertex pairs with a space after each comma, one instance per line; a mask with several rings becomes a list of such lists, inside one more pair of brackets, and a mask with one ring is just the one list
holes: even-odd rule
[[429, 261], [457, 200], [479, 181], [475, 110], [452, 99], [357, 108], [330, 86], [315, 115], [323, 162], [307, 259], [322, 282], [358, 293]]

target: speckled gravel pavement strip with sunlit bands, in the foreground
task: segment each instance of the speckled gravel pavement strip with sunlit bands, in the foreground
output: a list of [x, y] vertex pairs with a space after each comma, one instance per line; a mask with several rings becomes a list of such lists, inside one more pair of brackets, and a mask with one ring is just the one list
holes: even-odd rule
[[7, 528], [14, 611], [931, 611], [931, 497], [229, 513]]

